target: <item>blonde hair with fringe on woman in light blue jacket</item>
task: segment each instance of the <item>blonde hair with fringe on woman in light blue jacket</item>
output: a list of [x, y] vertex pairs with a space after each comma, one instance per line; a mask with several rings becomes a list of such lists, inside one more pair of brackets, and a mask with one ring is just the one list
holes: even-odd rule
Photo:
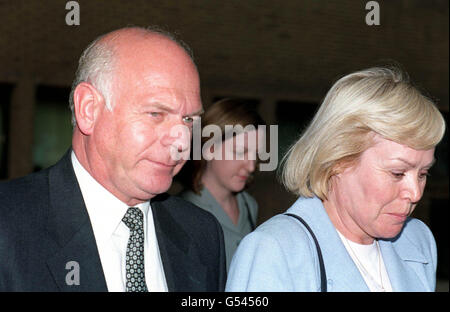
[[330, 178], [385, 139], [416, 150], [435, 147], [445, 121], [398, 68], [374, 67], [339, 79], [282, 160], [281, 179], [296, 195], [326, 199]]

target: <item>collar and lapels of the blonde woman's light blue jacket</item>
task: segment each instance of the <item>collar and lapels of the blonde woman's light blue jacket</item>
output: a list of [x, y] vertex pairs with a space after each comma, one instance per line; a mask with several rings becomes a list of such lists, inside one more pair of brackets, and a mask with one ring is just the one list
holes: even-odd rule
[[[330, 289], [369, 291], [319, 198], [299, 198], [288, 212], [301, 216], [316, 235], [324, 257]], [[399, 242], [399, 236], [392, 240], [379, 241], [392, 289], [394, 291], [420, 291], [420, 289], [414, 289], [418, 284], [418, 276], [411, 264], [413, 262], [426, 263], [426, 257], [414, 243]]]

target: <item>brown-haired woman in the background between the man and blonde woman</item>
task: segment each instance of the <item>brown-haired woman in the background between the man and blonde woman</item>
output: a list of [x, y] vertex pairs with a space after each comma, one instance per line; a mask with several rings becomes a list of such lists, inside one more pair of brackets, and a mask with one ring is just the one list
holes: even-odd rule
[[[263, 139], [258, 136], [264, 135], [257, 131], [258, 125], [265, 123], [248, 103], [235, 99], [212, 104], [201, 121], [203, 129], [218, 126], [221, 137], [208, 147], [205, 143], [211, 143], [214, 138], [202, 137], [202, 150], [206, 148], [213, 159], [202, 157], [187, 163], [187, 167], [191, 167], [190, 189], [180, 196], [218, 219], [224, 232], [228, 268], [241, 239], [255, 229], [258, 204], [244, 189], [252, 180], [257, 165], [255, 143]], [[230, 127], [237, 131], [228, 138]]]

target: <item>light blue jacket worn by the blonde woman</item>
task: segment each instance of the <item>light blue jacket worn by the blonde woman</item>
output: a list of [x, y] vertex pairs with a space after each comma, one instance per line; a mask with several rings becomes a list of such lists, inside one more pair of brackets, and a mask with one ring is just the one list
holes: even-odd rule
[[[287, 212], [301, 216], [319, 241], [328, 291], [369, 291], [320, 199], [299, 198]], [[393, 291], [434, 291], [436, 243], [424, 223], [409, 218], [396, 238], [379, 244]], [[239, 245], [226, 291], [320, 291], [318, 257], [309, 232], [285, 215], [263, 223]]]

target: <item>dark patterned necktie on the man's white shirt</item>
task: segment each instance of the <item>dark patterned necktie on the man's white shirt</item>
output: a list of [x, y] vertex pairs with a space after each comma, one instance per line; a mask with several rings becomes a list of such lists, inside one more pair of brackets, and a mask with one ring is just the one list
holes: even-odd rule
[[146, 292], [144, 271], [144, 223], [143, 214], [139, 208], [130, 207], [122, 219], [130, 229], [127, 245], [127, 292]]

